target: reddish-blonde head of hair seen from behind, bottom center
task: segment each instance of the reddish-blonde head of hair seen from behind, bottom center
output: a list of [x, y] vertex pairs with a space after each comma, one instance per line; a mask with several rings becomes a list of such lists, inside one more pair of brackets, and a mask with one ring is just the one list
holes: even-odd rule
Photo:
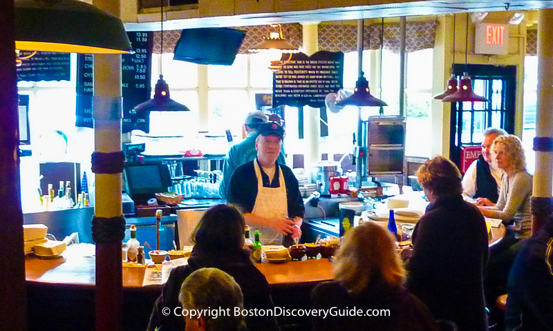
[[334, 278], [353, 294], [362, 292], [375, 277], [392, 286], [405, 280], [394, 238], [386, 228], [371, 222], [346, 232], [332, 268]]

